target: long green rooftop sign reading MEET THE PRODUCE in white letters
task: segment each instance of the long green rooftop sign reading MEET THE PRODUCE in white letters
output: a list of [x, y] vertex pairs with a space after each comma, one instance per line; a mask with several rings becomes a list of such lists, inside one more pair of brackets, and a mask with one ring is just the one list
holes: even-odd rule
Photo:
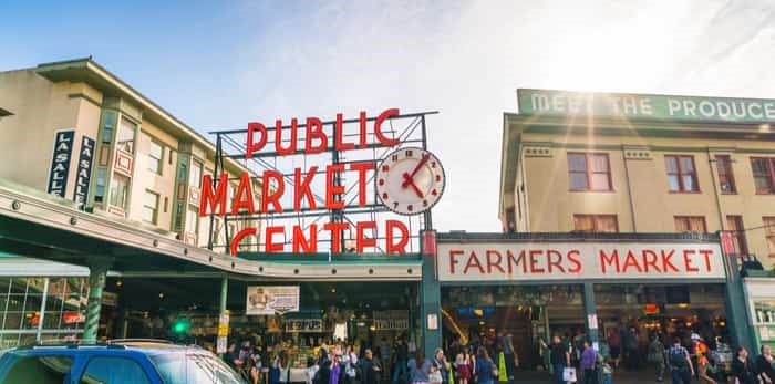
[[517, 90], [519, 114], [775, 123], [775, 100]]

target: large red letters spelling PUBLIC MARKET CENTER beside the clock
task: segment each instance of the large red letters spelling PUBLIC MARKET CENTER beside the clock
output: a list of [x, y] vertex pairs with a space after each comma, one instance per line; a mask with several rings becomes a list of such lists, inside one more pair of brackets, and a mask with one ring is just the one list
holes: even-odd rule
[[[385, 120], [400, 115], [397, 108], [385, 110], [376, 118], [374, 118], [371, 134], [383, 146], [391, 147], [399, 145], [401, 142], [395, 138], [388, 137], [382, 132], [382, 124]], [[365, 148], [370, 134], [369, 118], [365, 112], [360, 113], [360, 134], [356, 142], [344, 142], [342, 127], [344, 118], [342, 114], [337, 114], [334, 129], [331, 135], [323, 131], [323, 123], [318, 117], [307, 117], [303, 127], [299, 126], [298, 118], [292, 118], [290, 127], [283, 127], [281, 120], [277, 120], [273, 129], [273, 145], [277, 156], [288, 156], [293, 154], [319, 154], [333, 147], [337, 151], [349, 151], [356, 148]], [[304, 139], [303, 147], [299, 151], [301, 141], [298, 139], [299, 131], [303, 129]], [[247, 139], [245, 144], [245, 156], [251, 158], [255, 154], [265, 149], [269, 143], [270, 131], [261, 123], [248, 123]], [[283, 137], [285, 134], [289, 138]], [[240, 175], [239, 185], [231, 200], [231, 206], [228, 209], [230, 215], [255, 215], [260, 214], [281, 214], [283, 211], [300, 212], [303, 209], [328, 209], [338, 210], [344, 209], [345, 203], [343, 195], [345, 187], [337, 181], [339, 174], [350, 170], [358, 173], [358, 206], [364, 207], [368, 204], [369, 196], [366, 195], [366, 185], [369, 180], [369, 172], [375, 168], [374, 160], [351, 163], [348, 166], [344, 164], [329, 164], [326, 169], [319, 169], [318, 166], [311, 166], [307, 169], [293, 169], [292, 186], [287, 188], [283, 175], [279, 172], [266, 169], [260, 175], [260, 191], [254, 190], [251, 176], [248, 172]], [[326, 177], [324, 206], [319, 207], [312, 191], [312, 183], [321, 174]], [[323, 176], [324, 175], [324, 176]], [[215, 185], [215, 187], [214, 187]], [[229, 186], [229, 175], [224, 173], [214, 183], [210, 175], [204, 175], [202, 183], [202, 203], [199, 205], [199, 216], [218, 215], [226, 216], [227, 214], [227, 191]], [[288, 190], [291, 189], [291, 190]], [[288, 195], [286, 195], [288, 194]], [[283, 207], [280, 203], [282, 197], [288, 196], [292, 200], [292, 207]], [[256, 207], [256, 203], [258, 207]], [[362, 252], [366, 248], [376, 247], [376, 239], [371, 233], [376, 230], [376, 221], [358, 221], [354, 224], [355, 230], [355, 249]], [[341, 242], [343, 239], [342, 232], [350, 231], [350, 222], [326, 222], [322, 225], [311, 224], [307, 227], [294, 225], [291, 228], [291, 251], [298, 252], [317, 252], [318, 251], [318, 230], [322, 228], [330, 232], [331, 251], [342, 252]], [[267, 252], [285, 252], [286, 245], [282, 242], [282, 235], [286, 233], [286, 226], [268, 226], [264, 228], [262, 242]], [[388, 253], [404, 253], [410, 240], [409, 229], [400, 220], [385, 220], [384, 230], [385, 243], [384, 250]], [[248, 236], [258, 236], [258, 229], [248, 227], [234, 236], [229, 251], [236, 255], [240, 241]]]

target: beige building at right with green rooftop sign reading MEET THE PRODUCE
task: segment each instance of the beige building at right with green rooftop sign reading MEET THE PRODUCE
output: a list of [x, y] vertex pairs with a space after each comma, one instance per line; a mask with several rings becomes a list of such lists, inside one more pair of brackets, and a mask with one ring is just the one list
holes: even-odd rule
[[775, 263], [775, 102], [519, 90], [504, 115], [513, 232], [735, 233]]

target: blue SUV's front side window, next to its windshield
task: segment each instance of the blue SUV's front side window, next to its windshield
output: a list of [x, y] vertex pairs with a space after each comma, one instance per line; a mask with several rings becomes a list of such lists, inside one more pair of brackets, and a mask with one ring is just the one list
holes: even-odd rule
[[149, 384], [137, 362], [125, 357], [94, 357], [86, 364], [81, 384]]

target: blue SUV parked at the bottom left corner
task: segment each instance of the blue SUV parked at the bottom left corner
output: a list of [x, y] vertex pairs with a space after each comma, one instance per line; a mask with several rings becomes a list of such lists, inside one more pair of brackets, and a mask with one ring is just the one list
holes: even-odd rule
[[161, 341], [32, 345], [0, 357], [0, 384], [244, 384], [213, 353]]

